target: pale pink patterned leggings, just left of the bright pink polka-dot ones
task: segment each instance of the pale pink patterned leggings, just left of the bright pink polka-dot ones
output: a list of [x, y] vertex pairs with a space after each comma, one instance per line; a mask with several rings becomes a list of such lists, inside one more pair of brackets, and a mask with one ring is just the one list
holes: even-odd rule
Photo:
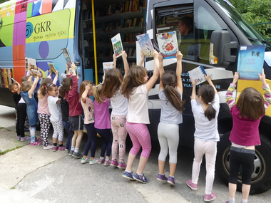
[[111, 129], [113, 132], [112, 160], [117, 160], [119, 151], [119, 162], [125, 162], [126, 153], [126, 115], [111, 115]]

